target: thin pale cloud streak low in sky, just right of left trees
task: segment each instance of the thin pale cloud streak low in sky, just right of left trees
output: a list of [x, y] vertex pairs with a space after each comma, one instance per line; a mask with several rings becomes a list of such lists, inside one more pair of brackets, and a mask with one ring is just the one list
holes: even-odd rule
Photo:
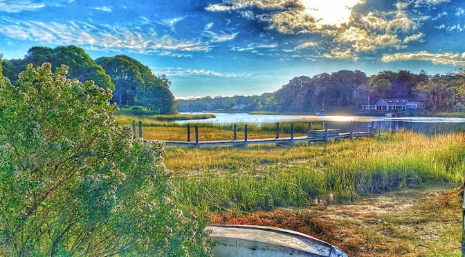
[[249, 77], [251, 73], [219, 73], [214, 70], [196, 68], [156, 68], [151, 67], [154, 73], [163, 73], [172, 77]]

